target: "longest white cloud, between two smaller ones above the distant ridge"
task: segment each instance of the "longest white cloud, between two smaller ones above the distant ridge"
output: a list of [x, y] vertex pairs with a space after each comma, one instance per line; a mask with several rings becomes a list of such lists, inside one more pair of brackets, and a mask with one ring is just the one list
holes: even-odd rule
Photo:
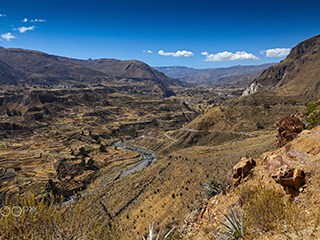
[[224, 51], [214, 54], [208, 52], [202, 52], [202, 55], [206, 56], [206, 62], [221, 62], [221, 61], [234, 61], [234, 60], [258, 60], [259, 58], [252, 53], [245, 51], [238, 51], [236, 53]]

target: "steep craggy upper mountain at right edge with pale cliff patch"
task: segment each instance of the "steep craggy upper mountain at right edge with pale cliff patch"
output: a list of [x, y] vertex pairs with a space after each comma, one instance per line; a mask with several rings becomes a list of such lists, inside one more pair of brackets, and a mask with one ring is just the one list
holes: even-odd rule
[[309, 101], [320, 97], [320, 35], [294, 47], [281, 63], [265, 70], [243, 95], [270, 91]]

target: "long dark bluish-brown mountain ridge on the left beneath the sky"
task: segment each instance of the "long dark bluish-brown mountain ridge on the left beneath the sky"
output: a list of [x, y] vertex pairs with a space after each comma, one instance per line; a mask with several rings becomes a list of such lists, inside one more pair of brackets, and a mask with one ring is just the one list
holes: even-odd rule
[[[122, 87], [137, 85], [145, 91], [174, 95], [171, 86], [179, 81], [165, 76], [139, 61], [114, 59], [77, 60], [24, 49], [0, 49], [2, 84], [79, 85], [113, 84]], [[10, 70], [9, 70], [10, 69]], [[21, 72], [23, 78], [10, 72]], [[8, 76], [7, 76], [8, 75]], [[124, 79], [123, 79], [124, 78]]]

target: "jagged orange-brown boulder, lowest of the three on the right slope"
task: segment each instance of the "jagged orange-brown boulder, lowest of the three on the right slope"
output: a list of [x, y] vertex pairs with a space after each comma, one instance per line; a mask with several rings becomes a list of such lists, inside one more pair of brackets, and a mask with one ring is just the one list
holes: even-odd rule
[[272, 178], [279, 183], [287, 194], [296, 195], [299, 189], [305, 184], [306, 174], [300, 168], [289, 168], [283, 166], [272, 175]]

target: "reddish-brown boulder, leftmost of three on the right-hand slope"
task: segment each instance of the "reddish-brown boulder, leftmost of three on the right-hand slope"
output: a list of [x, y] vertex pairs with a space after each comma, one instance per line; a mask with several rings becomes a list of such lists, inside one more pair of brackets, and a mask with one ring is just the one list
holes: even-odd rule
[[238, 186], [241, 180], [246, 178], [249, 175], [251, 169], [255, 166], [256, 162], [253, 160], [253, 158], [241, 158], [240, 162], [238, 162], [233, 167], [232, 186]]

